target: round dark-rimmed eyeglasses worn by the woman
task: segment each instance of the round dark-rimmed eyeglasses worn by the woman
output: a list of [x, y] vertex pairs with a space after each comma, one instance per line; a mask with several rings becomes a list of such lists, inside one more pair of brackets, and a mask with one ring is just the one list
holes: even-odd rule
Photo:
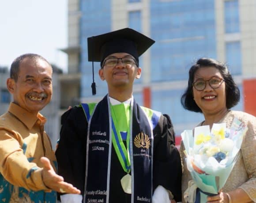
[[218, 77], [212, 77], [208, 80], [198, 79], [196, 80], [196, 82], [193, 83], [193, 86], [195, 87], [196, 90], [203, 91], [206, 87], [206, 82], [208, 82], [211, 88], [216, 89], [219, 86], [221, 86], [223, 81], [225, 80]]

